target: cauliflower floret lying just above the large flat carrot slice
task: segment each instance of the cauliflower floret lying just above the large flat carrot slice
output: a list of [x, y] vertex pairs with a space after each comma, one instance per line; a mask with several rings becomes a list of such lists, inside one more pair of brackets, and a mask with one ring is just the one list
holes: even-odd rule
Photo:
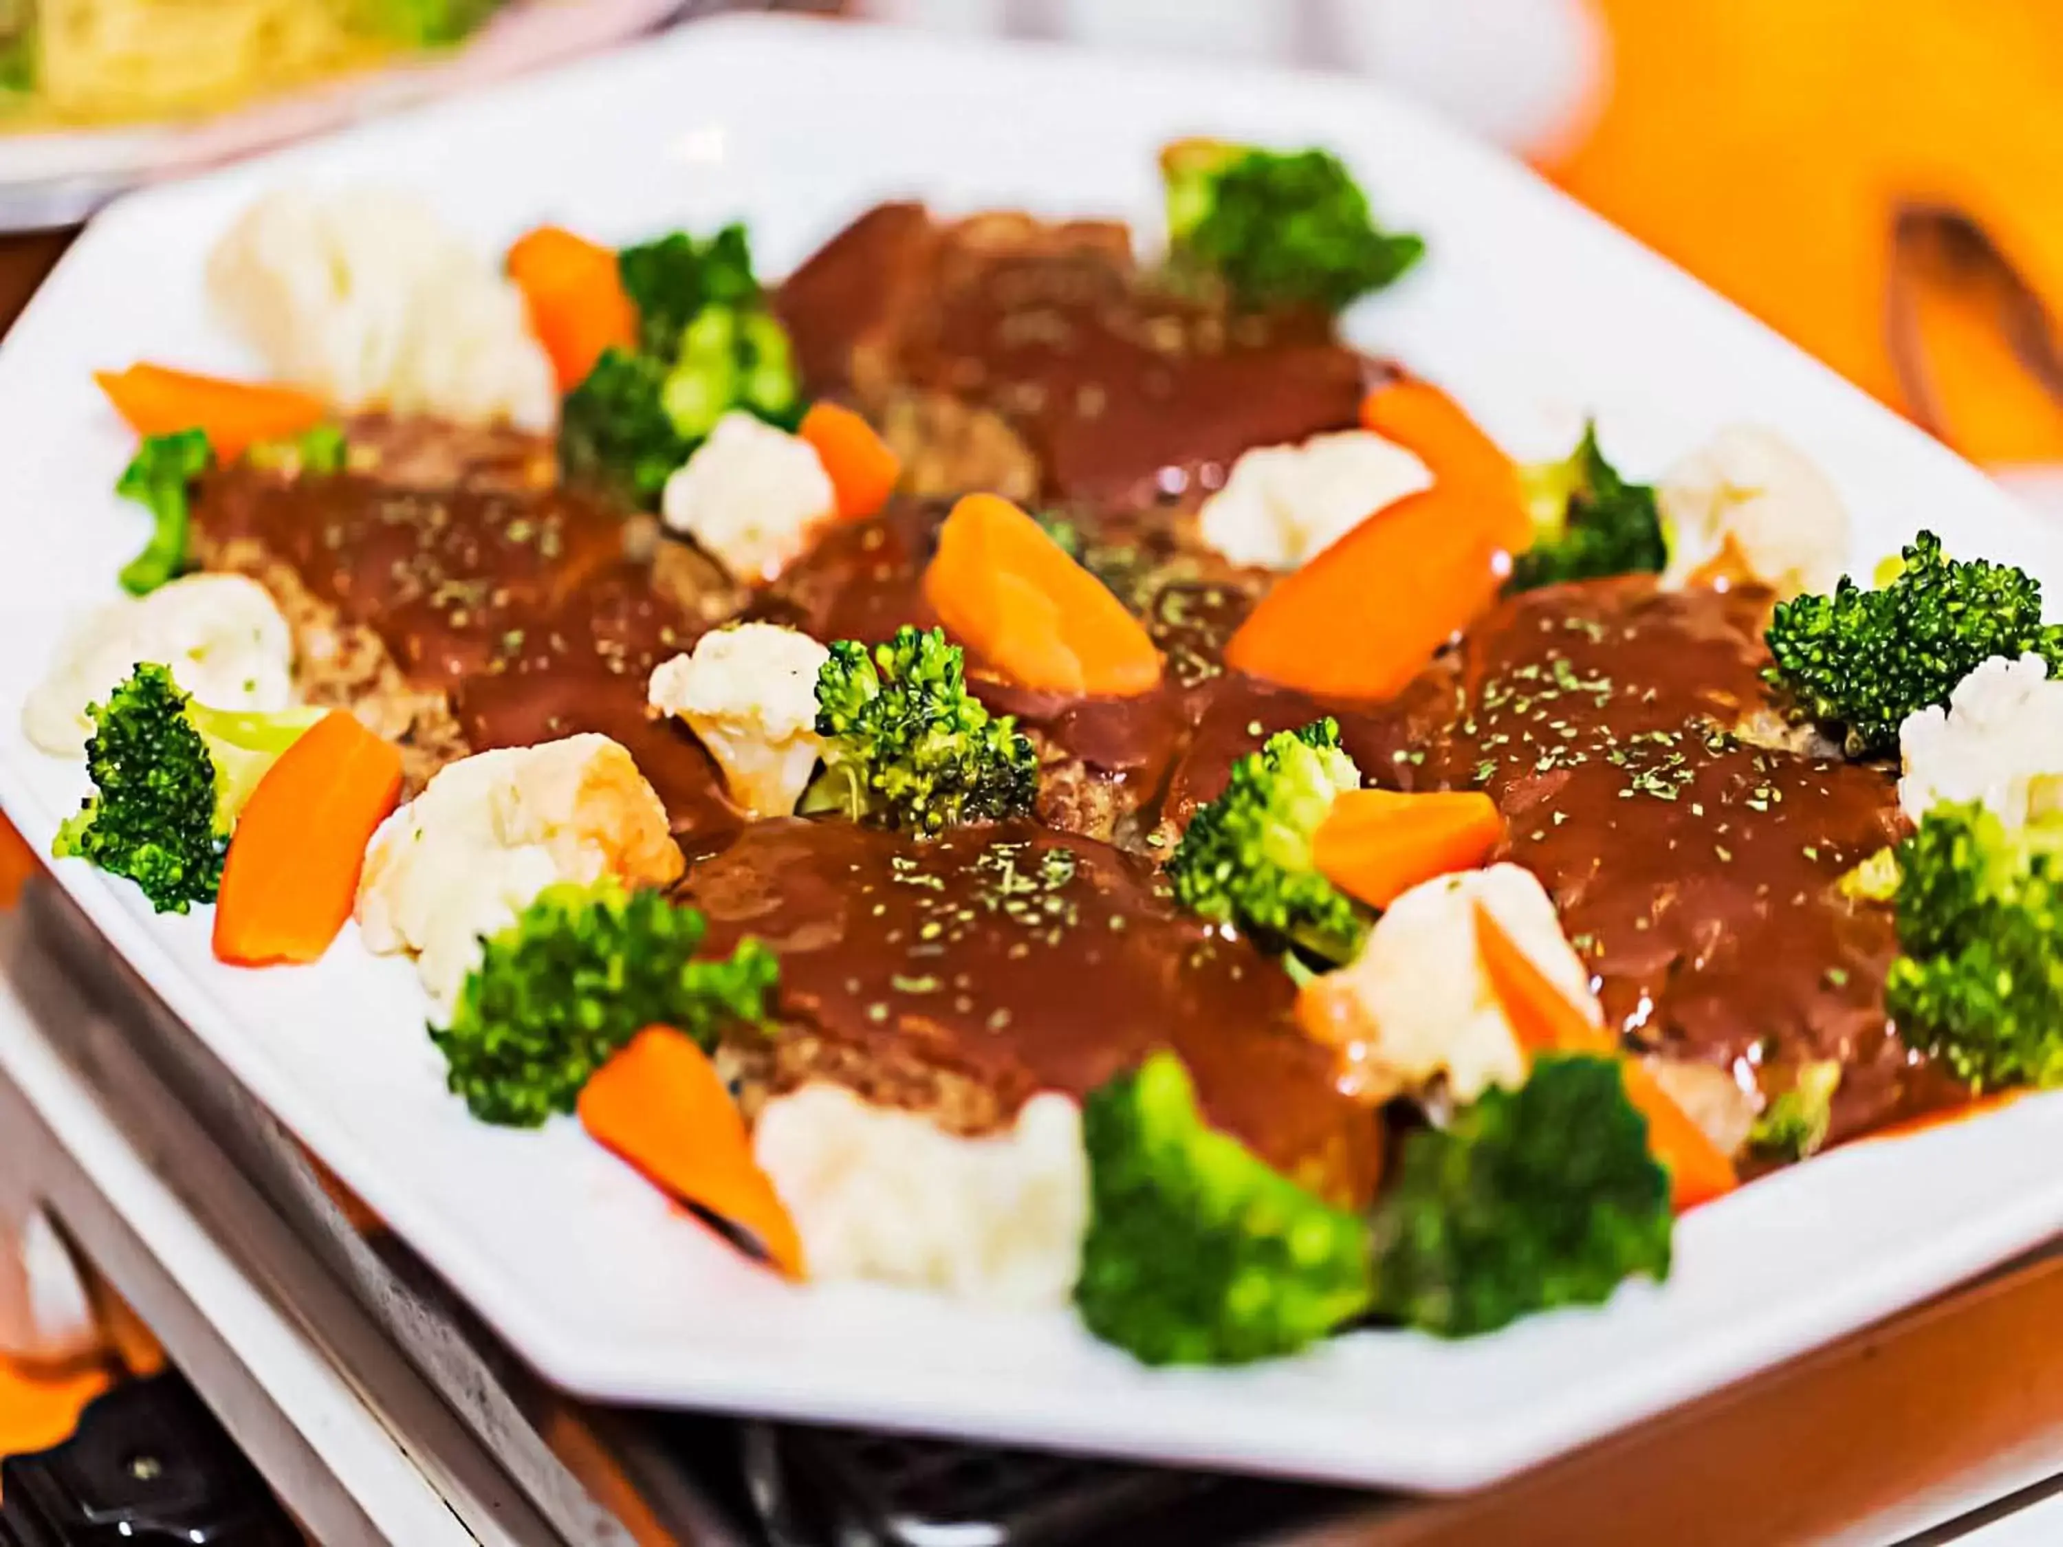
[[1432, 487], [1411, 452], [1368, 429], [1260, 446], [1203, 501], [1203, 540], [1234, 563], [1296, 569], [1374, 516]]

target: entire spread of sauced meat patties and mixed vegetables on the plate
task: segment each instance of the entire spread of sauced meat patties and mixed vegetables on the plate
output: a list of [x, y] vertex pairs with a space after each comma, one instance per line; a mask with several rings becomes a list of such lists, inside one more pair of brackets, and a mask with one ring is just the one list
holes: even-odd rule
[[1417, 243], [1337, 161], [1168, 177], [1159, 254], [883, 204], [780, 285], [268, 196], [217, 283], [293, 386], [107, 380], [161, 530], [31, 703], [60, 854], [225, 961], [349, 906], [481, 1120], [1149, 1363], [1599, 1304], [2063, 1083], [2036, 580], [1838, 578], [1764, 431], [1522, 466], [1339, 334]]

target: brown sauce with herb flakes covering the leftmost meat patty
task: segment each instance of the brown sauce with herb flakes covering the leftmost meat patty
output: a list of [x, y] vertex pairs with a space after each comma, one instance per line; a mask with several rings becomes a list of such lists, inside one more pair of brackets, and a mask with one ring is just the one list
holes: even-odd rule
[[646, 716], [652, 668], [701, 623], [623, 557], [617, 512], [229, 468], [204, 481], [194, 520], [215, 549], [256, 547], [371, 629], [411, 685], [446, 695], [470, 751], [596, 730], [631, 751], [677, 831], [739, 823], [701, 747]]

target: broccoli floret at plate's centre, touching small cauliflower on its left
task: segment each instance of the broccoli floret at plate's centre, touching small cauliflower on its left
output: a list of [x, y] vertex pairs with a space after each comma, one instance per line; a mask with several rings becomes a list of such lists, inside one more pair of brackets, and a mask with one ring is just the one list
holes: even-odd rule
[[902, 627], [873, 650], [833, 644], [817, 672], [817, 734], [823, 774], [805, 813], [926, 835], [1023, 815], [1038, 794], [1032, 743], [968, 691], [965, 658], [943, 629]]

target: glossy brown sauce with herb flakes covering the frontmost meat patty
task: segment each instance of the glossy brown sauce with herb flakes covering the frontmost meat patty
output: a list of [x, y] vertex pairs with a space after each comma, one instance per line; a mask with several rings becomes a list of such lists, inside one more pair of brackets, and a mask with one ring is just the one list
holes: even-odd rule
[[691, 864], [683, 897], [712, 949], [751, 934], [780, 953], [782, 1017], [875, 1095], [949, 1071], [1007, 1122], [1174, 1048], [1227, 1132], [1335, 1196], [1372, 1188], [1376, 1124], [1296, 1029], [1287, 974], [1180, 914], [1131, 854], [1029, 823], [916, 844], [788, 819]]

